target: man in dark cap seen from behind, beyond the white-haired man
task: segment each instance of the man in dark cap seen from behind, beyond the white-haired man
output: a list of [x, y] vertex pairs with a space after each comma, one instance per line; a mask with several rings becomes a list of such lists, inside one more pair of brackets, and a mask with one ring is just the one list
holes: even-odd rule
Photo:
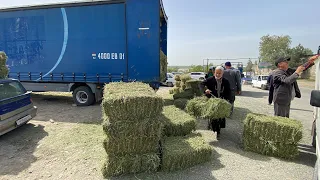
[[232, 115], [236, 94], [241, 93], [241, 78], [240, 78], [240, 72], [237, 72], [237, 70], [231, 66], [230, 62], [226, 62], [224, 65], [226, 70], [223, 73], [223, 77], [229, 81], [230, 89], [231, 89], [230, 103], [232, 104], [232, 110], [231, 110], [231, 115]]

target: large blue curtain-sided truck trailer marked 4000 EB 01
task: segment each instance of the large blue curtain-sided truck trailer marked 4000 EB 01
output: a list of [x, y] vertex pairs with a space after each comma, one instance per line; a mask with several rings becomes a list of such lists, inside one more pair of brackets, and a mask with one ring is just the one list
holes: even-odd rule
[[110, 82], [159, 88], [167, 21], [162, 0], [6, 7], [0, 9], [0, 51], [8, 56], [9, 78], [28, 91], [72, 92], [77, 105], [89, 106]]

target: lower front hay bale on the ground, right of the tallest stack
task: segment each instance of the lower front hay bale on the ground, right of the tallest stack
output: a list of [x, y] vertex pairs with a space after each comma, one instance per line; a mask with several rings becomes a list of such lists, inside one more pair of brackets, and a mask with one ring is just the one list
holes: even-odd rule
[[200, 134], [185, 137], [168, 137], [163, 143], [161, 170], [176, 171], [207, 162], [211, 159], [212, 147]]

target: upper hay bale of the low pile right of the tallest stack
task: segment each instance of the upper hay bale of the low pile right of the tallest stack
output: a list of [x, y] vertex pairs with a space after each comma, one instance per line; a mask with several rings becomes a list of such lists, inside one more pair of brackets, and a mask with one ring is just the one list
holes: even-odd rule
[[185, 136], [196, 130], [196, 119], [175, 106], [163, 108], [165, 136]]

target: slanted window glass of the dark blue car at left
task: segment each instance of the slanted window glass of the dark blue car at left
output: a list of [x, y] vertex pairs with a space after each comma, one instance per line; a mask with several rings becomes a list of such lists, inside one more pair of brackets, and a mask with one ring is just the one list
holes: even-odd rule
[[0, 82], [0, 100], [12, 98], [24, 93], [26, 93], [26, 91], [19, 82]]

